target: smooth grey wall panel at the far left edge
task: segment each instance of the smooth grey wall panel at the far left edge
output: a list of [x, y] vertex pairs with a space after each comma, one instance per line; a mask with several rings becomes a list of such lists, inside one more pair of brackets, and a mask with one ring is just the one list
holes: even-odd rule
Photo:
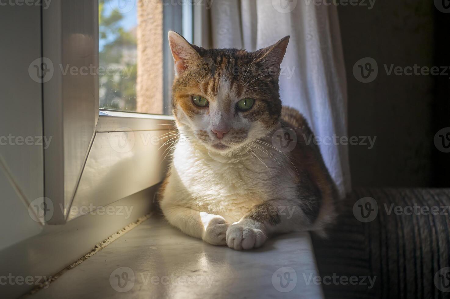
[[[44, 196], [42, 90], [29, 66], [42, 55], [40, 7], [1, 6], [0, 249], [38, 234], [28, 204]], [[31, 72], [33, 68], [31, 68]], [[6, 138], [7, 139], [6, 139]], [[28, 145], [25, 143], [28, 138]]]

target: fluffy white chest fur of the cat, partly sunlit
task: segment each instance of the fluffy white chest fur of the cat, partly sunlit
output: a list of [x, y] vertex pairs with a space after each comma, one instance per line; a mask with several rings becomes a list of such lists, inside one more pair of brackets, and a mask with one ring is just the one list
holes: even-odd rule
[[272, 174], [248, 153], [223, 156], [180, 142], [172, 163], [169, 185], [179, 192], [180, 204], [220, 214], [230, 222], [272, 196]]

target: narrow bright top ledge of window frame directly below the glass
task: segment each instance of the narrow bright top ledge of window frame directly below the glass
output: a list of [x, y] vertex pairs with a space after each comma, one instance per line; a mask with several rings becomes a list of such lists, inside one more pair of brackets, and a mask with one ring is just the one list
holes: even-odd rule
[[170, 130], [174, 126], [171, 115], [145, 114], [100, 110], [96, 132]]

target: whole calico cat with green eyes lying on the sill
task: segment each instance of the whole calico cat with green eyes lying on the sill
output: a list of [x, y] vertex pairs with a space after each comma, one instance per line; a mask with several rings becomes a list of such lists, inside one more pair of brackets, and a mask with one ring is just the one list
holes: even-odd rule
[[[336, 186], [317, 146], [301, 137], [312, 132], [297, 110], [281, 107], [288, 41], [256, 52], [207, 50], [169, 32], [178, 138], [159, 200], [184, 233], [252, 249], [274, 233], [323, 235], [335, 218]], [[294, 142], [289, 150], [286, 142]]]

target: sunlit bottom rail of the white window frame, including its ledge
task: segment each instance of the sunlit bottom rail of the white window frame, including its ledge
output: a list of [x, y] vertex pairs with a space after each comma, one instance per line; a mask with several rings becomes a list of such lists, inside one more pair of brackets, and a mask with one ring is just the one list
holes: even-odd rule
[[[166, 169], [161, 136], [175, 129], [173, 119], [100, 111], [70, 209], [105, 206], [161, 182]], [[82, 215], [69, 211], [63, 211], [66, 222]]]

